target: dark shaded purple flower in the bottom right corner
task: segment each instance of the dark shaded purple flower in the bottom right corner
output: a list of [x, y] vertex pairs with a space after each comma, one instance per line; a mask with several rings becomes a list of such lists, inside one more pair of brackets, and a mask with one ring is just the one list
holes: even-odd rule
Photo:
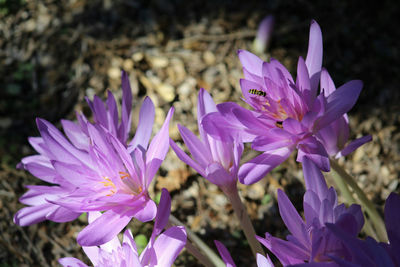
[[391, 193], [386, 199], [385, 225], [389, 243], [378, 243], [373, 238], [365, 240], [351, 236], [334, 224], [327, 227], [343, 241], [350, 258], [332, 257], [340, 266], [400, 266], [400, 196]]

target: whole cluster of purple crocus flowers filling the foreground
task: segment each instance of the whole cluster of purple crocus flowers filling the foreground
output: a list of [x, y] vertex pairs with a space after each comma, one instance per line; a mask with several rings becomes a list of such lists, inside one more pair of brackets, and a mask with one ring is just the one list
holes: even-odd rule
[[[264, 23], [270, 35], [273, 19]], [[330, 170], [330, 160], [346, 156], [372, 139], [364, 136], [348, 142], [346, 113], [356, 103], [362, 82], [349, 81], [336, 88], [322, 67], [322, 55], [322, 33], [315, 21], [310, 27], [306, 59], [298, 60], [296, 79], [277, 60], [264, 62], [239, 50], [244, 72], [240, 80], [243, 100], [251, 109], [233, 102], [216, 105], [211, 95], [200, 89], [200, 138], [178, 125], [191, 156], [169, 138], [173, 108], [150, 142], [155, 107], [148, 97], [141, 106], [135, 136], [128, 141], [132, 93], [125, 72], [120, 115], [109, 92], [105, 103], [97, 96], [93, 101], [87, 99], [94, 122], [81, 113], [76, 114], [77, 122], [62, 120], [65, 135], [38, 118], [40, 137], [29, 138], [38, 154], [23, 158], [18, 167], [48, 185], [27, 186], [28, 192], [20, 198], [27, 207], [15, 214], [14, 222], [20, 226], [45, 220], [62, 223], [86, 212], [89, 224], [77, 241], [94, 266], [171, 266], [187, 245], [186, 230], [172, 226], [164, 231], [171, 212], [169, 193], [162, 190], [158, 206], [148, 193], [171, 146], [180, 160], [217, 185], [240, 213], [258, 266], [274, 266], [269, 255], [262, 254], [260, 243], [284, 266], [399, 266], [400, 196], [392, 193], [386, 201], [389, 242], [378, 243], [371, 237], [361, 240], [361, 207], [339, 204], [335, 189], [328, 188], [322, 174]], [[241, 163], [243, 143], [251, 143], [252, 149], [261, 154]], [[237, 182], [259, 181], [294, 150], [304, 173], [304, 219], [289, 197], [278, 190], [279, 212], [290, 234], [286, 240], [269, 233], [265, 237], [253, 234], [251, 240], [249, 235], [254, 229], [249, 219], [243, 219], [244, 205], [238, 204]], [[142, 222], [155, 219], [150, 241], [140, 254], [129, 229], [123, 234], [122, 244], [118, 239], [133, 218]], [[219, 241], [215, 245], [226, 266], [236, 266], [227, 248]], [[63, 266], [87, 266], [71, 257], [59, 262]]]

